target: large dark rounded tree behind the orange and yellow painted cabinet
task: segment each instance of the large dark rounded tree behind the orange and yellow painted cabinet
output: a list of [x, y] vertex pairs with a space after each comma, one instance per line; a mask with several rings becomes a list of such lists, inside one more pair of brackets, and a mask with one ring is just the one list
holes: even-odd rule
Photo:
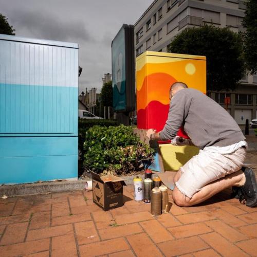
[[206, 56], [207, 90], [233, 90], [245, 72], [242, 37], [228, 28], [187, 28], [175, 37], [168, 51]]

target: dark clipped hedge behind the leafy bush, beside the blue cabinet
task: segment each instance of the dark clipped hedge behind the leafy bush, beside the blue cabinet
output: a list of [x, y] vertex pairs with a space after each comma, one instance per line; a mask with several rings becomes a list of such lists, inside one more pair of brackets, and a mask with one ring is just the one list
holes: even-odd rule
[[86, 119], [79, 119], [79, 150], [80, 150], [80, 156], [83, 158], [84, 156], [84, 149], [83, 144], [86, 140], [86, 132], [90, 127], [93, 127], [95, 125], [99, 126], [118, 126], [117, 121], [115, 120], [86, 120]]

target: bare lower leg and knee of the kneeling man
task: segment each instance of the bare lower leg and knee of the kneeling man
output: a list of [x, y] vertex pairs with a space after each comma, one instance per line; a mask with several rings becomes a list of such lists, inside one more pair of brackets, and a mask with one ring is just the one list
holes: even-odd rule
[[[177, 179], [176, 176], [179, 177], [179, 174], [175, 175], [174, 182], [177, 181], [177, 180], [175, 181], [175, 179]], [[244, 183], [245, 183], [245, 175], [242, 170], [239, 170], [224, 178], [221, 178], [209, 183], [208, 185], [204, 186], [200, 191], [195, 193], [192, 198], [189, 198], [183, 195], [177, 189], [177, 187], [174, 188], [172, 197], [174, 202], [178, 206], [188, 207], [188, 206], [199, 204], [226, 188], [229, 188], [232, 186], [240, 187], [240, 186], [243, 186]]]

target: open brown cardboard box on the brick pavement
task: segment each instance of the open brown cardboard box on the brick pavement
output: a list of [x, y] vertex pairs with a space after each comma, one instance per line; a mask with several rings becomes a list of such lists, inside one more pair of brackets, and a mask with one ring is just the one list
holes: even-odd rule
[[103, 208], [104, 211], [123, 206], [123, 179], [106, 175], [100, 177], [97, 173], [91, 172], [93, 182], [93, 201]]

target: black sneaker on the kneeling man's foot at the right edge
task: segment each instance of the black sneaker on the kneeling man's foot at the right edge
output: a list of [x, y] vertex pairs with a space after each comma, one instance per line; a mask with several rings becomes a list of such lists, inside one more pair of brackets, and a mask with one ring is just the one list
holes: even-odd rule
[[254, 172], [249, 167], [242, 169], [245, 174], [245, 185], [238, 187], [241, 193], [238, 193], [240, 203], [244, 200], [246, 206], [254, 207], [257, 205], [257, 183]]

